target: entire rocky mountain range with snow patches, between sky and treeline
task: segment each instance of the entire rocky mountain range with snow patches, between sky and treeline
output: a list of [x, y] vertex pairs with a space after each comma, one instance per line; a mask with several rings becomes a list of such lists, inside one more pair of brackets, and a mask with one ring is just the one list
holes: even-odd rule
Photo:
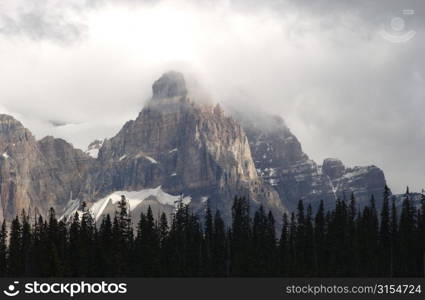
[[[113, 213], [122, 195], [137, 219], [149, 205], [157, 215], [176, 204], [202, 213], [207, 201], [230, 220], [235, 195], [265, 206], [276, 219], [299, 199], [332, 208], [355, 194], [360, 204], [380, 199], [385, 177], [375, 166], [348, 168], [338, 159], [311, 160], [280, 117], [225, 112], [200, 99], [177, 72], [165, 73], [135, 120], [86, 152], [62, 139], [36, 141], [0, 115], [0, 219], [22, 209], [69, 217], [86, 202], [97, 220]], [[379, 205], [379, 204], [378, 204]]]

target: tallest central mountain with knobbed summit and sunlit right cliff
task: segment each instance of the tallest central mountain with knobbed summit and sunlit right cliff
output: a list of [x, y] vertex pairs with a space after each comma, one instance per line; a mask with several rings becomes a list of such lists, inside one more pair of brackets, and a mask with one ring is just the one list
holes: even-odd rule
[[219, 106], [197, 103], [180, 73], [158, 79], [137, 119], [100, 148], [91, 195], [161, 186], [190, 196], [195, 211], [209, 199], [226, 215], [233, 197], [245, 195], [282, 213], [278, 194], [257, 175], [241, 126]]

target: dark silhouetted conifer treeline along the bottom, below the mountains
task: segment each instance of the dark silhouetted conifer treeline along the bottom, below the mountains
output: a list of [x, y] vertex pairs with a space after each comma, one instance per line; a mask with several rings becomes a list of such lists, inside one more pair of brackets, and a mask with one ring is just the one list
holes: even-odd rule
[[[387, 187], [359, 209], [354, 196], [313, 214], [302, 201], [283, 215], [279, 236], [271, 212], [250, 213], [236, 197], [232, 221], [206, 209], [203, 222], [179, 204], [170, 224], [165, 214], [141, 214], [136, 232], [125, 198], [113, 218], [96, 226], [84, 208], [58, 221], [50, 209], [29, 221], [25, 212], [0, 230], [0, 275], [41, 277], [403, 277], [424, 276], [425, 196], [412, 205], [407, 191], [398, 212]], [[378, 213], [379, 211], [379, 213]], [[30, 224], [32, 223], [32, 224]]]

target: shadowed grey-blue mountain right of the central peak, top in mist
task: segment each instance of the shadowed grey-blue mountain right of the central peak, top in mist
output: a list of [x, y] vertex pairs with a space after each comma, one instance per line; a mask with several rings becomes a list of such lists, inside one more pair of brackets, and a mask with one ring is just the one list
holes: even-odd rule
[[337, 198], [348, 198], [352, 192], [360, 205], [368, 203], [371, 194], [380, 205], [385, 176], [379, 168], [346, 168], [340, 160], [331, 158], [320, 166], [302, 151], [280, 117], [259, 112], [234, 115], [248, 136], [258, 174], [278, 191], [290, 210], [300, 199], [313, 207], [324, 200], [330, 209]]

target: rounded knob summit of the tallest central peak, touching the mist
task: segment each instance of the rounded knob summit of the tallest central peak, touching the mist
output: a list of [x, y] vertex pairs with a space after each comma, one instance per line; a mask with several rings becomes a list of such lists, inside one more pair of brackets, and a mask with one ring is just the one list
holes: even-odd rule
[[152, 86], [153, 99], [184, 97], [187, 95], [186, 81], [180, 72], [164, 73]]

